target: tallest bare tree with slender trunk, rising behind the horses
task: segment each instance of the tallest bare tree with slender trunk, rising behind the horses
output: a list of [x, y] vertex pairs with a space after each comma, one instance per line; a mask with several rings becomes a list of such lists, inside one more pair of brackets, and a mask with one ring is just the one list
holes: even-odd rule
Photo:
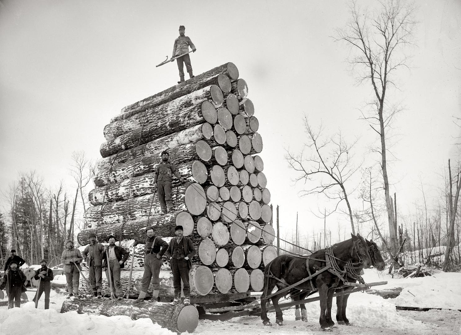
[[359, 82], [372, 87], [374, 99], [369, 104], [370, 111], [362, 115], [380, 139], [378, 152], [384, 197], [391, 245], [395, 250], [397, 239], [389, 191], [386, 131], [398, 109], [389, 104], [386, 93], [391, 86], [396, 86], [396, 72], [407, 66], [408, 57], [404, 51], [412, 44], [415, 21], [413, 4], [389, 0], [381, 2], [380, 7], [378, 12], [370, 13], [358, 8], [355, 1], [351, 2], [351, 21], [345, 29], [336, 30], [335, 40], [346, 42], [351, 48], [349, 63], [359, 73]]

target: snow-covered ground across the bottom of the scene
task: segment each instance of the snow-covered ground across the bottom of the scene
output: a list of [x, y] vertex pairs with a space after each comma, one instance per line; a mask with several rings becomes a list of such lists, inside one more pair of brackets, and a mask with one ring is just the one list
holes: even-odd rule
[[[387, 285], [375, 289], [402, 288], [395, 299], [383, 299], [378, 295], [354, 293], [348, 302], [348, 317], [352, 326], [335, 325], [334, 334], [461, 334], [461, 273], [436, 273], [434, 276], [392, 279], [388, 275], [366, 270], [366, 282], [388, 281]], [[63, 281], [64, 278], [57, 278]], [[35, 292], [27, 292], [32, 300]], [[49, 335], [49, 334], [174, 334], [160, 328], [150, 319], [131, 320], [129, 317], [104, 317], [67, 312], [60, 314], [65, 291], [52, 290], [50, 309], [43, 309], [43, 296], [36, 310], [32, 302], [20, 309], [8, 310], [0, 306], [0, 334]], [[431, 311], [397, 311], [396, 306], [444, 308]], [[200, 320], [195, 334], [198, 335], [292, 335], [323, 334], [319, 327], [319, 302], [306, 305], [308, 321], [295, 321], [295, 310], [284, 310], [284, 325], [265, 327], [260, 317], [237, 317], [231, 320]], [[451, 309], [451, 310], [449, 310]], [[335, 320], [336, 305], [332, 315]], [[275, 313], [269, 318], [275, 321]], [[273, 322], [274, 323], [274, 322]]]

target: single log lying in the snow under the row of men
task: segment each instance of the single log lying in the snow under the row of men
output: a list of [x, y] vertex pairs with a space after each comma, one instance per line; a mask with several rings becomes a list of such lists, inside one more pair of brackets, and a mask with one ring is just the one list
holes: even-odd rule
[[199, 313], [194, 305], [177, 304], [171, 306], [166, 302], [148, 302], [143, 305], [134, 304], [134, 300], [112, 301], [96, 299], [65, 300], [61, 313], [77, 311], [78, 314], [92, 315], [128, 315], [137, 320], [142, 317], [150, 318], [161, 327], [170, 329], [178, 334], [188, 331], [192, 333], [197, 328]]

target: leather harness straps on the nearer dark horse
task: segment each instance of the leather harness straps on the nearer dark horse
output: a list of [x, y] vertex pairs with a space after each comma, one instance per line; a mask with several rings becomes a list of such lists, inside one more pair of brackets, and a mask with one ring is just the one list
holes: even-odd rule
[[[306, 259], [306, 269], [307, 269], [307, 275], [308, 276], [306, 278], [301, 279], [299, 282], [294, 283], [293, 285], [289, 285], [284, 279], [280, 279], [280, 278], [274, 276], [272, 274], [272, 271], [271, 271], [271, 264], [272, 263], [270, 263], [268, 273], [265, 274], [264, 276], [268, 277], [268, 278], [274, 278], [274, 279], [278, 280], [279, 282], [283, 283], [284, 285], [288, 285], [288, 287], [283, 288], [281, 290], [278, 290], [277, 292], [267, 296], [267, 286], [268, 285], [266, 285], [266, 287], [264, 288], [264, 292], [263, 292], [263, 294], [261, 296], [261, 299], [269, 299], [275, 294], [280, 294], [282, 292], [286, 292], [286, 291], [290, 290], [291, 288], [296, 288], [296, 286], [300, 285], [303, 282], [307, 282], [307, 281], [309, 281], [310, 286], [312, 288], [312, 291], [317, 291], [317, 288], [314, 288], [312, 279], [315, 276], [318, 276], [320, 273], [322, 273], [324, 271], [328, 271], [331, 274], [333, 274], [334, 276], [337, 276], [339, 278], [339, 280], [341, 282], [343, 282], [342, 286], [335, 287], [335, 288], [343, 288], [343, 287], [347, 287], [347, 286], [361, 286], [361, 287], [363, 287], [363, 285], [365, 284], [365, 281], [361, 277], [361, 274], [357, 273], [357, 271], [356, 271], [357, 269], [362, 269], [362, 268], [361, 267], [355, 267], [355, 265], [363, 263], [363, 259], [361, 258], [361, 255], [364, 255], [364, 253], [359, 253], [358, 248], [356, 246], [356, 243], [357, 242], [354, 242], [354, 249], [355, 249], [355, 251], [357, 253], [357, 256], [359, 257], [359, 261], [357, 263], [353, 263], [350, 259], [349, 259], [349, 261], [345, 262], [342, 259], [337, 258], [333, 253], [333, 248], [332, 247], [329, 247], [329, 248], [325, 249], [325, 259], [316, 259], [316, 258], [313, 258], [311, 256], [301, 256], [301, 255], [294, 256], [294, 257], [297, 257], [297, 258]], [[317, 271], [315, 271], [315, 273], [311, 274], [311, 270], [309, 268], [309, 260], [315, 260], [315, 261], [319, 261], [319, 262], [326, 263], [326, 264], [322, 269], [317, 270]], [[339, 265], [337, 263], [337, 260], [340, 260], [341, 262], [346, 263], [344, 265], [344, 269], [341, 269], [339, 267]], [[355, 280], [358, 280], [360, 282], [360, 284], [357, 284], [357, 283], [354, 283], [354, 282], [349, 282], [347, 280], [347, 277], [350, 277], [350, 278], [353, 278]]]

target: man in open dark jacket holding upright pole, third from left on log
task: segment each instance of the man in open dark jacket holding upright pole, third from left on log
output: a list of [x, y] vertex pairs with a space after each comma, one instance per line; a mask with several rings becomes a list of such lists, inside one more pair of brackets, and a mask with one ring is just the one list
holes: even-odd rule
[[[109, 262], [107, 262], [106, 250], [109, 250]], [[130, 252], [126, 251], [124, 247], [116, 246], [115, 236], [109, 235], [109, 245], [104, 246], [104, 253], [102, 254], [102, 268], [106, 270], [107, 282], [109, 280], [112, 282], [112, 291], [114, 295], [117, 296], [118, 300], [123, 299], [122, 284], [120, 283], [120, 269], [125, 266], [128, 256], [130, 256]], [[107, 266], [110, 266], [110, 279]]]

